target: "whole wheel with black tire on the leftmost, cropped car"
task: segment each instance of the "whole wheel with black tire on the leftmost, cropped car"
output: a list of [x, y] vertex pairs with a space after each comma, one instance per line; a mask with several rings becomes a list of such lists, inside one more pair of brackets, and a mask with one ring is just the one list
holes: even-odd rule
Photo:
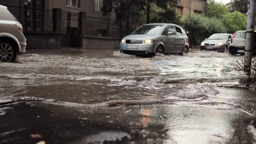
[[0, 40], [0, 62], [14, 62], [16, 57], [15, 44], [10, 40]]

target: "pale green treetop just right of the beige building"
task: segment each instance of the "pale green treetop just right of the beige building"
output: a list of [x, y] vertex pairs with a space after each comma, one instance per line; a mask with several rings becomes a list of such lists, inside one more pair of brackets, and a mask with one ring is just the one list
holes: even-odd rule
[[213, 0], [207, 2], [205, 14], [207, 17], [223, 18], [226, 14], [228, 14], [226, 5], [217, 3]]

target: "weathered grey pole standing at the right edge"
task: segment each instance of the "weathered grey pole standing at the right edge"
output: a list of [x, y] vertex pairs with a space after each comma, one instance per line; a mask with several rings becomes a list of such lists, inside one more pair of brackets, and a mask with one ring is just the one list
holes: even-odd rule
[[[256, 2], [249, 0], [247, 14], [247, 30], [244, 50], [244, 68], [249, 68], [252, 64], [252, 48], [254, 41], [254, 21], [256, 12]], [[250, 72], [250, 70], [248, 70]]]

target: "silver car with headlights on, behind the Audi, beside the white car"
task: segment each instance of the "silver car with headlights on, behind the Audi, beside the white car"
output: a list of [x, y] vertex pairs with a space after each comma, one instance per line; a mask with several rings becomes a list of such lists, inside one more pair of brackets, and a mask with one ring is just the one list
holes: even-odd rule
[[201, 50], [226, 52], [232, 36], [233, 34], [226, 33], [212, 34], [200, 44], [200, 48]]

